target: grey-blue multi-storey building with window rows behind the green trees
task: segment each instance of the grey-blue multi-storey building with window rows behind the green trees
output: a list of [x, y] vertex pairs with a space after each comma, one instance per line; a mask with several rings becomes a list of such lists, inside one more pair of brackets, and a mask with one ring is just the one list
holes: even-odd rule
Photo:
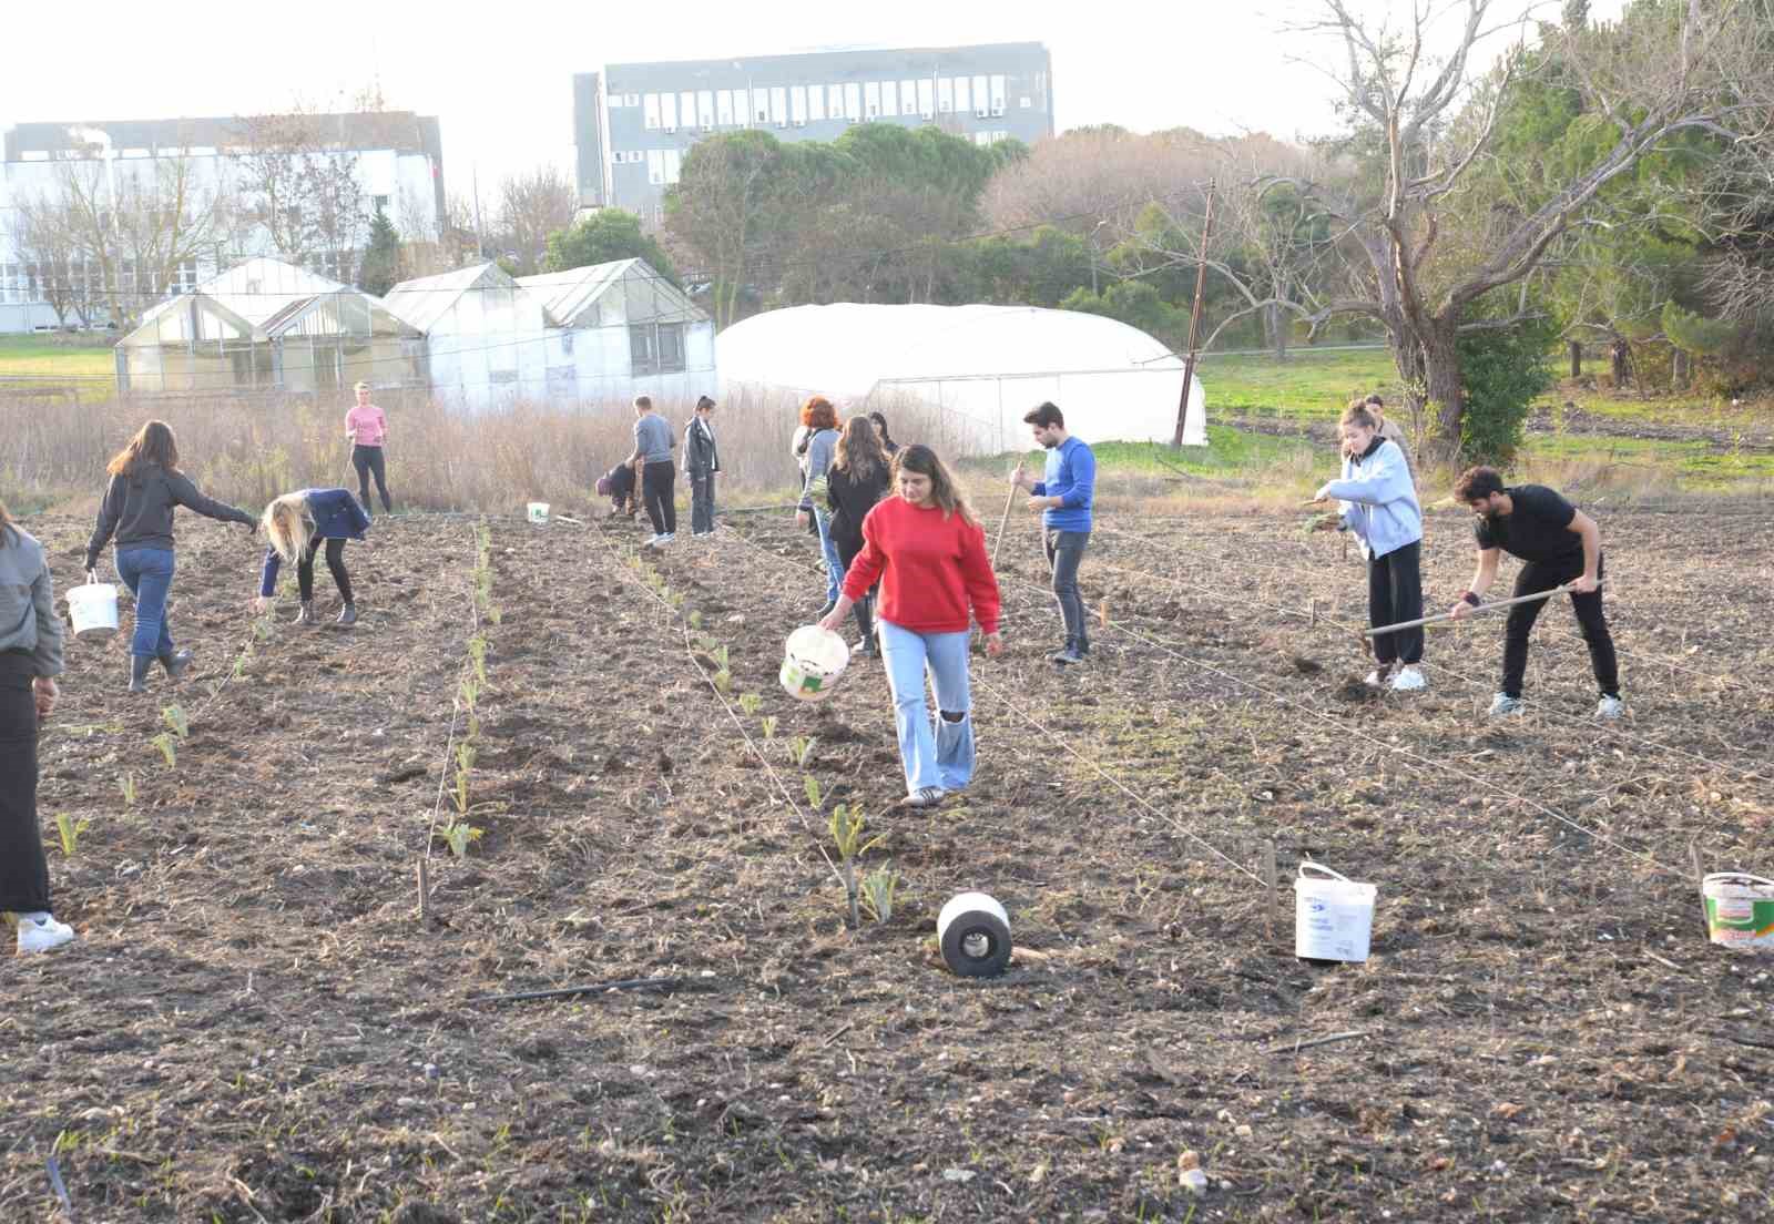
[[763, 128], [779, 140], [836, 140], [859, 122], [1032, 144], [1054, 135], [1052, 57], [1040, 43], [992, 43], [607, 64], [573, 78], [580, 204], [656, 225], [703, 137]]

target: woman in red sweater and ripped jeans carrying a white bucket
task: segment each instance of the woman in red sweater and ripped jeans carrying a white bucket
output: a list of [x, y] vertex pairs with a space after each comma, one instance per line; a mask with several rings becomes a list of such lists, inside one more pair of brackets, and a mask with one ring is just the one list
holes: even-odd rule
[[[892, 477], [898, 497], [882, 500], [862, 520], [862, 552], [844, 573], [837, 607], [820, 626], [836, 632], [880, 580], [882, 658], [892, 685], [905, 802], [935, 807], [974, 777], [969, 608], [986, 635], [986, 655], [999, 655], [1004, 639], [997, 578], [986, 534], [935, 451], [903, 447]], [[924, 708], [926, 669], [937, 692], [935, 720]]]

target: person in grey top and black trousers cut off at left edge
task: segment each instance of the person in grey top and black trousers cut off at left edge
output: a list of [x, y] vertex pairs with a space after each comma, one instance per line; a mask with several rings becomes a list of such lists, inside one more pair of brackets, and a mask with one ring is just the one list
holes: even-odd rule
[[18, 924], [20, 953], [75, 938], [50, 915], [50, 862], [37, 825], [37, 724], [55, 706], [62, 617], [43, 545], [0, 504], [0, 910]]

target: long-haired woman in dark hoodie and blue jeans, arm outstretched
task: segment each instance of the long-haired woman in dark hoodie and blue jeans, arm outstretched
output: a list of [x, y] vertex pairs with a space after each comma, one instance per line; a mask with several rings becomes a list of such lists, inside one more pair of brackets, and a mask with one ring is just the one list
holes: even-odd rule
[[177, 679], [190, 651], [172, 649], [167, 594], [172, 591], [172, 511], [179, 506], [222, 523], [257, 527], [252, 514], [211, 500], [179, 470], [179, 443], [165, 420], [149, 420], [110, 465], [99, 522], [87, 541], [87, 582], [98, 582], [99, 552], [117, 537], [117, 577], [135, 596], [135, 637], [130, 640], [130, 692], [147, 692], [147, 671], [160, 660]]

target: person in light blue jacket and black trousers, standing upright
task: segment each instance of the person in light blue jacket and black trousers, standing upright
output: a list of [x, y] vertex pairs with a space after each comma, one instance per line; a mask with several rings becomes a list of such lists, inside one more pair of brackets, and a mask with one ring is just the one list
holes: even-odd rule
[[[1352, 530], [1368, 559], [1368, 624], [1423, 617], [1423, 507], [1405, 452], [1380, 436], [1380, 422], [1359, 399], [1343, 410], [1343, 477], [1318, 490], [1338, 498], [1343, 513], [1327, 527]], [[1425, 688], [1423, 630], [1398, 630], [1373, 639], [1377, 667], [1368, 683], [1396, 692]], [[1396, 667], [1396, 671], [1394, 671]]]

